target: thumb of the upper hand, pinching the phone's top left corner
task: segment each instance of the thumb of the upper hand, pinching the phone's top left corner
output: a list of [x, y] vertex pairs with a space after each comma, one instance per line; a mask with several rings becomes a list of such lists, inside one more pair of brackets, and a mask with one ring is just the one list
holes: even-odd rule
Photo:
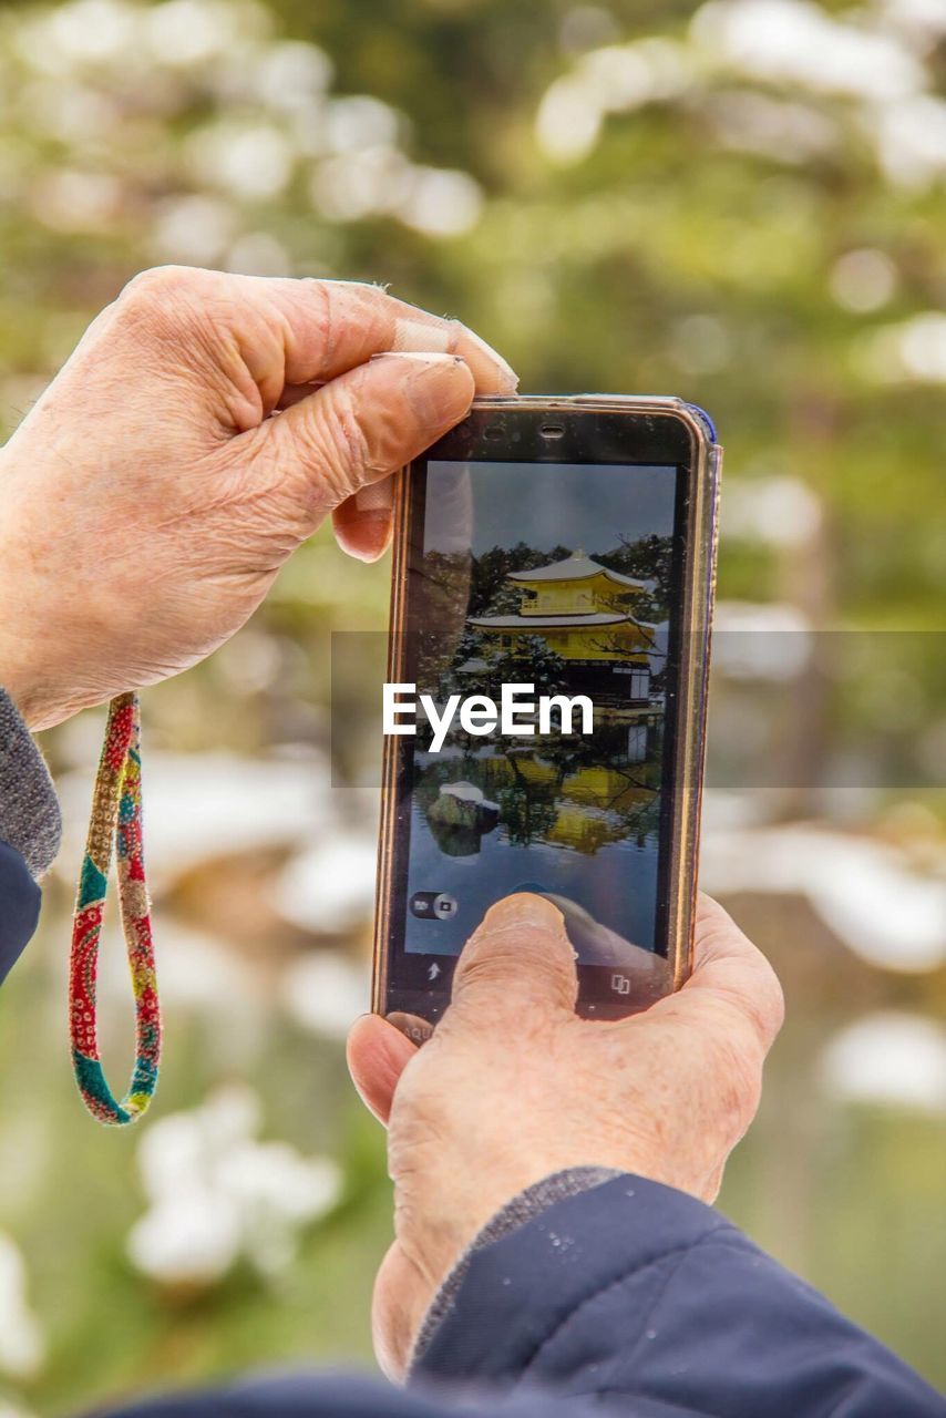
[[254, 437], [305, 537], [346, 498], [460, 423], [472, 397], [474, 377], [455, 354], [374, 354], [267, 420]]

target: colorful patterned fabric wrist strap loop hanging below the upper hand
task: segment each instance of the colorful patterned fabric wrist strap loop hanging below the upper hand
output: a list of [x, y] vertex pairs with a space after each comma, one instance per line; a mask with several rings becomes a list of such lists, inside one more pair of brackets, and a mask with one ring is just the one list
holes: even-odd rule
[[[69, 957], [69, 1041], [79, 1092], [101, 1123], [133, 1123], [157, 1086], [160, 1008], [155, 978], [150, 906], [142, 845], [142, 720], [138, 695], [119, 695], [108, 710], [102, 759], [95, 778], [92, 820], [72, 917]], [[118, 898], [135, 991], [135, 1069], [116, 1102], [98, 1054], [98, 951], [108, 873], [118, 841]]]

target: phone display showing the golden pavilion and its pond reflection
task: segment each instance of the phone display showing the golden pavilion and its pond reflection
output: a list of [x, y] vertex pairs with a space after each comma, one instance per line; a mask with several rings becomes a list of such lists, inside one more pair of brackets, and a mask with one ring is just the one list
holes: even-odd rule
[[[389, 1008], [435, 1018], [486, 909], [532, 891], [563, 910], [581, 1012], [620, 1012], [667, 973], [685, 469], [431, 458], [411, 476], [406, 679], [441, 708], [532, 685], [533, 732], [454, 715], [440, 744], [423, 719], [399, 740]], [[590, 700], [590, 733], [556, 696]]]

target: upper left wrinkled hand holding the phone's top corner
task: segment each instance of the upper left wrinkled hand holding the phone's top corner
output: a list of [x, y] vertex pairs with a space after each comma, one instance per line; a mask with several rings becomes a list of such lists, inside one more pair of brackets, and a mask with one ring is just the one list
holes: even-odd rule
[[0, 451], [0, 683], [45, 727], [186, 669], [329, 512], [380, 556], [387, 475], [513, 389], [374, 286], [145, 272]]

